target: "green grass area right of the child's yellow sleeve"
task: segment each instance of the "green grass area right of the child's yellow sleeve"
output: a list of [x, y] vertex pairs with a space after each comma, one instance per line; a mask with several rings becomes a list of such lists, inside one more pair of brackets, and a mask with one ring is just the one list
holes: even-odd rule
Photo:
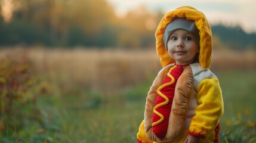
[[225, 107], [221, 119], [221, 142], [256, 142], [255, 71], [222, 71], [216, 74]]

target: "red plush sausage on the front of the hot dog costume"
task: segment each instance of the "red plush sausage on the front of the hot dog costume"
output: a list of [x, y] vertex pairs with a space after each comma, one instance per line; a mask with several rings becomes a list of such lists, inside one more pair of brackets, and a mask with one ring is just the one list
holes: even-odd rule
[[[159, 123], [156, 126], [153, 126], [153, 132], [159, 139], [165, 138], [165, 135], [168, 129], [169, 114], [171, 113], [172, 101], [174, 98], [175, 85], [177, 83], [178, 77], [180, 77], [182, 72], [183, 72], [182, 66], [177, 66], [174, 69], [172, 69], [170, 74], [174, 77], [175, 82], [172, 85], [166, 86], [161, 90], [162, 94], [164, 94], [166, 97], [169, 98], [169, 103], [156, 109], [156, 111], [158, 111], [164, 116], [163, 122]], [[171, 82], [171, 78], [166, 76], [162, 85], [168, 82]], [[155, 106], [164, 101], [165, 99], [162, 98], [160, 95], [158, 95], [158, 97], [156, 97]], [[161, 117], [153, 113], [152, 123], [157, 122], [159, 119], [161, 119]]]

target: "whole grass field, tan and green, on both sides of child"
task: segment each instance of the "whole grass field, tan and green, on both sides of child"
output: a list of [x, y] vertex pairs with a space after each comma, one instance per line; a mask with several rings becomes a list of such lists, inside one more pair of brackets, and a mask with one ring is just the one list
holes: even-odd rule
[[[21, 51], [0, 57], [26, 57], [33, 79], [26, 96], [36, 97], [39, 114], [7, 129], [0, 142], [135, 142], [147, 91], [161, 68], [155, 51]], [[217, 58], [220, 66], [212, 67], [225, 103], [221, 142], [256, 142], [255, 52], [249, 55], [249, 67], [229, 67], [235, 57]]]

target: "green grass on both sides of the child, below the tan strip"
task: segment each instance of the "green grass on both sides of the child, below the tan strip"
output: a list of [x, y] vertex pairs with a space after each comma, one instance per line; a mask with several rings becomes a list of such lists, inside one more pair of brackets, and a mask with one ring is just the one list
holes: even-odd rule
[[[215, 74], [220, 80], [225, 103], [221, 142], [256, 142], [255, 71]], [[0, 142], [136, 142], [152, 82], [153, 77], [121, 94], [73, 88], [63, 92], [61, 97], [40, 95], [41, 117], [38, 120], [42, 120], [41, 125], [37, 120], [29, 120], [14, 135], [2, 135]]]

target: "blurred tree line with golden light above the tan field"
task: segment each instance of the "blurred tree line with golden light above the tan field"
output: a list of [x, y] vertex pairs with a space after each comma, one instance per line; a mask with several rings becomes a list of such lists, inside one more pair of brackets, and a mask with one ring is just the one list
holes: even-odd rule
[[[129, 11], [124, 17], [117, 17], [106, 0], [0, 1], [0, 46], [25, 44], [149, 48], [155, 46], [155, 29], [164, 15], [160, 12], [149, 13], [141, 6]], [[220, 39], [218, 42], [228, 41], [236, 49], [240, 48], [237, 39], [248, 36], [236, 28], [235, 35], [232, 34], [234, 29], [223, 26], [215, 26], [212, 30]], [[252, 34], [243, 40], [246, 47], [255, 48], [256, 42], [251, 41], [255, 38], [255, 34]], [[241, 46], [245, 44], [241, 43]]]

